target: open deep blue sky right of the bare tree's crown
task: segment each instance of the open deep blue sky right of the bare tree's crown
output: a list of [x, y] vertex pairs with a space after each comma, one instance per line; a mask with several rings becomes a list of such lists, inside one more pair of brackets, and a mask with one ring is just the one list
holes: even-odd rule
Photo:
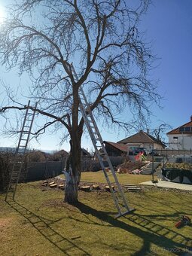
[[160, 0], [142, 22], [159, 59], [154, 78], [164, 95], [163, 110], [154, 111], [153, 125], [160, 119], [176, 127], [187, 123], [192, 114], [192, 1]]

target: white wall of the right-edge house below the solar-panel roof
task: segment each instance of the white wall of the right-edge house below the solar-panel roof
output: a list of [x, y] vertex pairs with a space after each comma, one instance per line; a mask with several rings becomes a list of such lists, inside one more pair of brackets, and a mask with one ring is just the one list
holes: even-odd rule
[[169, 149], [192, 150], [192, 136], [187, 134], [169, 134]]

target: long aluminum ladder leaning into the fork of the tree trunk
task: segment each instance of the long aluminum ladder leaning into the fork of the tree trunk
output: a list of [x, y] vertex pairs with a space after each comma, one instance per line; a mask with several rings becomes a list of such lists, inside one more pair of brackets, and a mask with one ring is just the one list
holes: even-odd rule
[[[78, 75], [75, 72], [73, 65], [72, 65], [72, 71], [75, 75], [75, 79], [78, 81]], [[128, 206], [128, 203], [126, 202], [126, 198], [124, 196], [123, 190], [122, 190], [120, 183], [117, 179], [117, 175], [116, 175], [116, 172], [114, 171], [114, 168], [111, 164], [111, 160], [108, 157], [108, 153], [105, 149], [105, 145], [102, 140], [102, 136], [99, 133], [98, 126], [96, 125], [95, 118], [93, 117], [92, 111], [90, 109], [90, 105], [87, 102], [87, 98], [84, 94], [84, 90], [81, 87], [79, 88], [79, 101], [80, 101], [81, 114], [84, 117], [84, 122], [85, 122], [85, 125], [87, 126], [87, 130], [90, 135], [90, 139], [93, 142], [93, 146], [95, 148], [96, 155], [99, 159], [99, 163], [100, 163], [102, 170], [105, 174], [105, 178], [108, 183], [108, 187], [111, 190], [114, 204], [118, 211], [118, 214], [115, 217], [118, 218], [122, 215], [126, 215], [129, 212], [132, 212], [133, 209], [130, 209], [130, 207]], [[105, 162], [107, 161], [108, 167], [111, 169], [111, 172], [106, 171], [105, 165], [104, 165], [104, 160], [105, 160]], [[114, 182], [110, 181], [110, 177], [109, 177], [108, 173], [112, 174]], [[115, 190], [112, 187], [112, 184], [115, 185]]]

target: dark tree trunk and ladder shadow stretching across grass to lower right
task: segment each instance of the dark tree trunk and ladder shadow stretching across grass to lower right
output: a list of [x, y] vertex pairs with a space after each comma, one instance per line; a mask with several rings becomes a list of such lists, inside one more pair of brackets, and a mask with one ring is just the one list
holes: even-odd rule
[[[161, 254], [166, 254], [166, 251], [174, 251], [175, 254], [179, 255], [186, 251], [191, 251], [192, 241], [190, 237], [183, 236], [167, 227], [156, 224], [145, 216], [143, 217], [142, 215], [135, 213], [134, 215], [126, 215], [117, 219], [108, 215], [106, 212], [97, 211], [90, 206], [84, 205], [84, 203], [79, 202], [75, 204], [75, 206], [84, 213], [84, 215], [93, 215], [94, 217], [99, 218], [100, 221], [110, 224], [112, 227], [126, 230], [133, 233], [133, 235], [142, 238], [144, 241], [142, 248], [139, 251], [136, 251], [133, 255], [143, 255], [150, 252], [151, 254], [156, 252], [159, 252], [158, 254], [160, 254], [160, 252]], [[82, 220], [75, 219], [75, 221]], [[98, 225], [98, 223], [96, 224]], [[152, 251], [151, 245], [158, 246], [159, 251]]]

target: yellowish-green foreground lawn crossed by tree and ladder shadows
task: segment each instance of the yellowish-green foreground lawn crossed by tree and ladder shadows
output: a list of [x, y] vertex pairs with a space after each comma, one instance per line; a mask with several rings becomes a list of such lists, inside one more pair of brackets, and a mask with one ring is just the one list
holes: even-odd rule
[[71, 206], [61, 190], [39, 184], [19, 184], [15, 202], [0, 194], [0, 255], [178, 255], [192, 248], [192, 227], [175, 228], [181, 215], [192, 218], [191, 193], [157, 187], [126, 193], [136, 211], [115, 219], [107, 192], [79, 191], [81, 203]]

